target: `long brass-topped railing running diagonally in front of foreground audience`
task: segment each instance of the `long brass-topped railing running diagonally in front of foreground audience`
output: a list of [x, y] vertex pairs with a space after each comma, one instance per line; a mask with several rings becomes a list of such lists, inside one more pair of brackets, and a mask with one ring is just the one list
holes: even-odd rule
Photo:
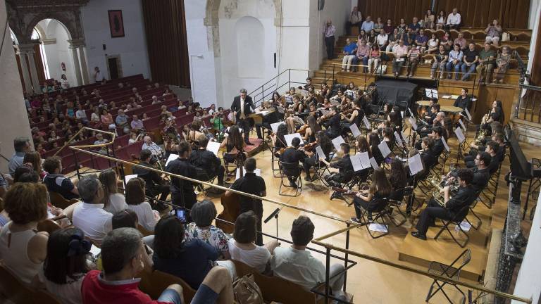
[[[456, 280], [456, 279], [451, 279], [449, 277], [442, 277], [442, 276], [439, 276], [437, 274], [432, 274], [430, 272], [427, 272], [425, 270], [418, 270], [418, 269], [416, 269], [414, 267], [410, 267], [410, 266], [407, 266], [407, 265], [401, 265], [401, 264], [399, 264], [397, 262], [391, 262], [389, 260], [378, 258], [378, 257], [372, 256], [372, 255], [366, 255], [366, 254], [359, 253], [359, 252], [356, 252], [356, 251], [351, 251], [351, 250], [349, 250], [349, 234], [352, 231], [352, 229], [356, 229], [357, 227], [359, 227], [359, 224], [353, 223], [350, 220], [344, 220], [344, 219], [342, 219], [340, 217], [335, 217], [335, 216], [332, 216], [332, 215], [325, 215], [323, 213], [318, 213], [318, 212], [313, 211], [313, 210], [309, 210], [309, 209], [306, 209], [306, 208], [301, 208], [301, 207], [299, 207], [297, 205], [291, 205], [289, 203], [282, 203], [281, 201], [277, 201], [277, 200], [274, 200], [272, 198], [256, 196], [254, 194], [247, 194], [247, 193], [244, 193], [242, 191], [229, 189], [227, 187], [218, 186], [216, 184], [211, 184], [209, 182], [201, 182], [201, 181], [199, 181], [197, 179], [192, 179], [192, 178], [185, 177], [185, 176], [182, 176], [182, 175], [175, 175], [175, 174], [170, 173], [170, 172], [166, 172], [166, 171], [163, 171], [163, 170], [158, 170], [158, 169], [156, 169], [154, 167], [147, 167], [147, 166], [144, 166], [144, 165], [139, 165], [137, 163], [129, 162], [128, 160], [120, 160], [118, 158], [114, 158], [114, 157], [111, 157], [111, 156], [106, 156], [106, 155], [103, 155], [103, 154], [100, 154], [100, 153], [96, 153], [94, 151], [87, 151], [87, 150], [84, 149], [84, 148], [92, 148], [92, 147], [98, 147], [98, 146], [99, 145], [97, 145], [97, 146], [92, 146], [92, 145], [91, 146], [70, 146], [69, 148], [72, 149], [73, 151], [77, 151], [77, 152], [80, 152], [80, 153], [87, 153], [90, 156], [94, 156], [94, 157], [97, 157], [97, 158], [105, 158], [109, 162], [120, 164], [120, 172], [124, 172], [124, 165], [130, 165], [132, 167], [142, 167], [142, 168], [144, 168], [146, 170], [151, 170], [151, 171], [154, 171], [154, 172], [158, 172], [159, 174], [168, 175], [169, 177], [175, 177], [175, 178], [182, 179], [182, 180], [185, 180], [185, 181], [188, 181], [188, 182], [193, 182], [193, 183], [196, 183], [196, 184], [209, 186], [211, 188], [230, 191], [232, 193], [239, 194], [239, 195], [242, 195], [242, 196], [247, 196], [249, 198], [254, 198], [254, 199], [257, 199], [257, 200], [265, 201], [267, 203], [273, 203], [273, 204], [280, 205], [280, 206], [285, 207], [285, 208], [292, 208], [294, 210], [299, 210], [299, 211], [302, 211], [304, 213], [309, 213], [311, 215], [317, 215], [319, 217], [325, 217], [325, 218], [327, 218], [329, 220], [335, 220], [337, 222], [342, 222], [343, 224], [346, 224], [345, 228], [339, 229], [336, 232], [331, 232], [329, 234], [325, 234], [324, 236], [320, 236], [320, 237], [318, 237], [316, 239], [313, 239], [313, 241], [312, 241], [312, 243], [314, 243], [314, 244], [316, 244], [318, 246], [323, 246], [325, 248], [326, 264], [327, 264], [326, 274], [325, 274], [325, 282], [324, 282], [324, 284], [325, 284], [325, 293], [321, 293], [320, 291], [313, 291], [313, 292], [321, 294], [322, 296], [325, 296], [326, 303], [329, 303], [330, 299], [335, 299], [335, 300], [338, 300], [340, 303], [344, 303], [344, 300], [335, 298], [334, 296], [330, 295], [330, 282], [329, 282], [330, 281], [330, 258], [337, 258], [339, 260], [344, 261], [344, 287], [343, 287], [343, 289], [345, 291], [346, 286], [347, 286], [347, 270], [349, 270], [350, 268], [354, 267], [354, 265], [356, 265], [355, 261], [349, 259], [349, 255], [353, 255], [353, 256], [363, 258], [363, 259], [366, 259], [366, 260], [371, 260], [373, 262], [378, 262], [380, 264], [388, 265], [390, 267], [394, 267], [394, 268], [397, 268], [399, 270], [406, 270], [408, 272], [421, 274], [421, 275], [423, 275], [425, 277], [429, 277], [431, 279], [437, 279], [437, 280], [444, 281], [444, 282], [447, 282], [447, 283], [450, 283], [450, 284], [456, 284], [458, 286], [464, 286], [464, 287], [466, 287], [468, 289], [473, 289], [473, 290], [481, 291], [481, 292], [484, 292], [484, 293], [494, 294], [494, 295], [502, 297], [502, 298], [508, 298], [508, 299], [512, 299], [512, 300], [519, 300], [519, 301], [521, 301], [523, 303], [528, 303], [528, 304], [532, 303], [532, 301], [530, 299], [521, 298], [521, 297], [518, 297], [518, 296], [514, 296], [514, 295], [512, 295], [510, 293], [504, 293], [502, 291], [497, 291], [495, 289], [488, 289], [485, 286], [480, 286], [479, 284], [468, 283], [466, 281], [459, 281], [459, 280]], [[172, 205], [172, 204], [170, 204], [170, 205]], [[338, 234], [342, 234], [344, 232], [346, 233], [345, 248], [335, 246], [332, 243], [323, 242], [323, 240], [325, 240], [325, 239], [328, 239], [328, 238], [330, 238], [332, 236], [336, 236]], [[270, 234], [263, 234], [263, 235], [270, 236], [273, 239], [279, 239], [278, 236], [271, 236]], [[286, 241], [286, 242], [290, 243], [290, 241], [285, 240], [285, 239], [279, 239], [279, 240]], [[323, 254], [323, 251], [318, 251], [317, 249], [314, 249], [314, 248], [309, 248], [309, 249], [311, 249], [312, 251]], [[331, 252], [333, 250], [338, 251], [340, 253], [344, 253], [344, 258], [340, 257], [339, 255], [333, 255], [332, 252]]]

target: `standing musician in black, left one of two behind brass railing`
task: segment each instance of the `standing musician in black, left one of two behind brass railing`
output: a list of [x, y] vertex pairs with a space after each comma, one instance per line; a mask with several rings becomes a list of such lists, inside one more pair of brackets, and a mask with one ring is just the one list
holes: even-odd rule
[[[182, 175], [197, 179], [197, 171], [195, 167], [188, 162], [188, 156], [191, 148], [187, 141], [182, 140], [178, 144], [178, 158], [171, 160], [166, 166], [166, 171], [175, 175]], [[194, 203], [197, 202], [194, 192], [194, 184], [177, 177], [171, 178], [171, 202], [174, 205], [180, 205], [187, 209], [192, 209]]]

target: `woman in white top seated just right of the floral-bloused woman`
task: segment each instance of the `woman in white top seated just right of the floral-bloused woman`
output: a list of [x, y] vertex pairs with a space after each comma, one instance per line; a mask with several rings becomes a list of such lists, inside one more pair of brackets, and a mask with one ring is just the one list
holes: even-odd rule
[[274, 248], [280, 246], [280, 243], [270, 241], [263, 246], [254, 244], [256, 222], [257, 218], [253, 211], [241, 213], [237, 217], [233, 239], [229, 240], [229, 253], [232, 260], [238, 260], [259, 272], [264, 272]]

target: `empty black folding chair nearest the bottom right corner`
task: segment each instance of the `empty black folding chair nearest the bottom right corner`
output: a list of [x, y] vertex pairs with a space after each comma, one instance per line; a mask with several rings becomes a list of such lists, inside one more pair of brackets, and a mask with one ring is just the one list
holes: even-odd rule
[[[456, 267], [455, 265], [459, 263], [460, 260], [461, 265]], [[430, 265], [428, 266], [428, 272], [430, 274], [436, 274], [440, 277], [448, 277], [449, 279], [458, 280], [460, 278], [460, 272], [462, 268], [464, 268], [464, 266], [466, 266], [468, 262], [470, 262], [470, 260], [471, 251], [469, 249], [466, 249], [461, 253], [461, 255], [458, 256], [458, 258], [456, 258], [451, 263], [451, 265], [445, 265], [435, 261], [430, 262]], [[445, 286], [446, 284], [452, 285], [457, 291], [459, 291], [459, 293], [462, 294], [462, 304], [466, 303], [466, 294], [464, 294], [464, 291], [461, 291], [461, 289], [459, 289], [456, 284], [447, 283], [437, 279], [434, 279], [432, 285], [430, 285], [430, 289], [428, 290], [428, 295], [426, 296], [425, 301], [428, 302], [428, 300], [430, 300], [430, 298], [432, 298], [438, 291], [442, 291], [443, 295], [445, 296], [445, 298], [447, 298], [449, 303], [453, 303], [453, 301], [449, 298], [449, 296], [447, 296], [447, 293], [443, 289], [443, 286]], [[433, 291], [435, 286], [437, 286], [437, 289]]]

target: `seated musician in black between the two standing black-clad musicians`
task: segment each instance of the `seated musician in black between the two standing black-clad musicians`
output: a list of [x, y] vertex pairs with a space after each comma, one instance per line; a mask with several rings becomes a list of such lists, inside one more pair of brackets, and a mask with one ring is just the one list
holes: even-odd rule
[[209, 139], [199, 138], [199, 148], [189, 155], [189, 163], [196, 167], [197, 179], [206, 182], [213, 177], [218, 177], [218, 185], [223, 186], [225, 169], [222, 166], [222, 161], [213, 152], [206, 149], [207, 144], [209, 144]]

